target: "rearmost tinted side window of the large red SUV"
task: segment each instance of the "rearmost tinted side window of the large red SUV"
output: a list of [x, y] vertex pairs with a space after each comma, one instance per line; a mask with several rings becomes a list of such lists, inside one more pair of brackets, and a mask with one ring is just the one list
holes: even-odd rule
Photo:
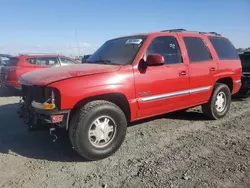
[[237, 51], [233, 44], [226, 38], [221, 37], [208, 37], [211, 41], [219, 59], [239, 59]]

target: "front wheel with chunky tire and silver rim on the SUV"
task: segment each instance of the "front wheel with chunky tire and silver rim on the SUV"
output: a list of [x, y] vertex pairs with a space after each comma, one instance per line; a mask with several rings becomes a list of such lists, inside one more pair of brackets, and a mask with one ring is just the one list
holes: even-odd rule
[[[108, 123], [105, 124], [106, 120]], [[113, 127], [112, 131], [110, 127]], [[117, 105], [103, 100], [86, 104], [72, 117], [69, 127], [73, 148], [87, 160], [99, 160], [115, 153], [124, 141], [126, 132], [127, 119], [123, 111]], [[90, 133], [95, 135], [90, 136]], [[103, 136], [109, 139], [107, 143], [101, 140]], [[98, 140], [101, 140], [99, 145], [94, 143]]]

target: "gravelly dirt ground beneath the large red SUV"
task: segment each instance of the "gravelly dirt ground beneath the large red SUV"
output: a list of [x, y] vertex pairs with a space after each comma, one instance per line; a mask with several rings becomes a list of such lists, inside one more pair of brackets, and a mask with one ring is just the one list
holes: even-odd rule
[[250, 187], [250, 97], [208, 121], [200, 108], [136, 122], [113, 156], [83, 161], [67, 135], [28, 132], [0, 97], [0, 187]]

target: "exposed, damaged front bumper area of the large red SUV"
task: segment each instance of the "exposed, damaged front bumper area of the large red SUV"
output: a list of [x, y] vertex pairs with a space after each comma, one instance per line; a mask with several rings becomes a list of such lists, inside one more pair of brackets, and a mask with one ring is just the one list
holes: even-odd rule
[[31, 129], [68, 128], [70, 110], [41, 110], [22, 103], [18, 113]]

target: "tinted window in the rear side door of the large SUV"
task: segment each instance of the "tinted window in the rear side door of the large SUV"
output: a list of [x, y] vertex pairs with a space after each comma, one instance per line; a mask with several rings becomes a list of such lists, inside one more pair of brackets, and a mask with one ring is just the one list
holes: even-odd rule
[[184, 37], [184, 43], [187, 48], [189, 61], [204, 62], [212, 60], [212, 56], [201, 38]]

